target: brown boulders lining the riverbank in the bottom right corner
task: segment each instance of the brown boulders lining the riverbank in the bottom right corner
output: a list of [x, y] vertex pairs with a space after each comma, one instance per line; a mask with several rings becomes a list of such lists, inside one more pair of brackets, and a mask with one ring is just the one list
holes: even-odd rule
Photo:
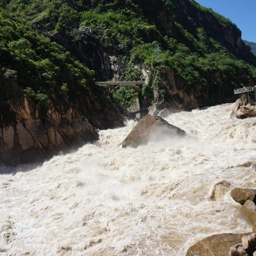
[[246, 234], [219, 234], [189, 247], [186, 256], [255, 256], [256, 255], [256, 190], [235, 188], [230, 193], [242, 205], [240, 216], [252, 226]]

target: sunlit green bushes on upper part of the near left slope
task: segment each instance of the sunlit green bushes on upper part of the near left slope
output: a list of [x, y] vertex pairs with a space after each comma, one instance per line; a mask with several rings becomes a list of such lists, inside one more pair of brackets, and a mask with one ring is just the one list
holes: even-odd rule
[[[93, 71], [25, 20], [9, 17], [10, 13], [0, 11], [0, 72], [5, 78], [17, 82], [41, 110], [47, 110], [55, 94], [88, 93]], [[3, 86], [0, 90], [6, 93]]]

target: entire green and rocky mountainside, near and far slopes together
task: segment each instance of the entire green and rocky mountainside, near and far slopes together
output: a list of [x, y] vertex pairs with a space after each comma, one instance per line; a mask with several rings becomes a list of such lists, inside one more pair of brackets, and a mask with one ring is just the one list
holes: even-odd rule
[[255, 82], [256, 57], [241, 31], [193, 0], [0, 4], [4, 162], [97, 139], [97, 128], [122, 116], [114, 101], [129, 107], [138, 97], [127, 88], [109, 94], [94, 78], [145, 78], [145, 107], [181, 109], [234, 100], [235, 87]]

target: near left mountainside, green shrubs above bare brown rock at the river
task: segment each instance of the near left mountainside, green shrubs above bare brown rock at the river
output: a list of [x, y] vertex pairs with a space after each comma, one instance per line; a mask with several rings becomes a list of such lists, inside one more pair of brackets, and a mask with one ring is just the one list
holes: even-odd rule
[[93, 82], [93, 71], [0, 10], [0, 162], [35, 162], [98, 139], [97, 127], [120, 119]]

